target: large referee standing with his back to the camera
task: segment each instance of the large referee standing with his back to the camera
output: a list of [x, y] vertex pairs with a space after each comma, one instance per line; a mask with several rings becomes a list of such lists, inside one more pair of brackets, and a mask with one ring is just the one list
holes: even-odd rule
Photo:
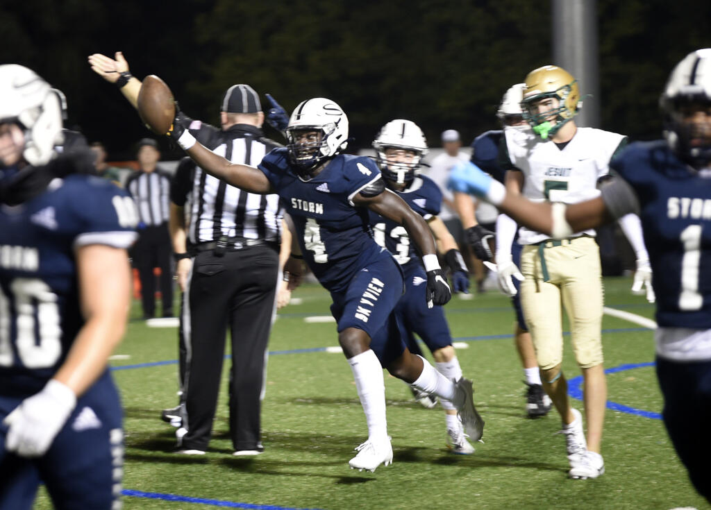
[[[260, 98], [249, 85], [232, 85], [225, 92], [222, 129], [187, 117], [181, 121], [206, 147], [234, 163], [257, 166], [278, 146], [262, 134]], [[183, 160], [171, 201], [176, 273], [184, 291], [178, 451], [199, 454], [208, 447], [229, 325], [234, 455], [257, 455], [264, 450], [260, 397], [279, 271], [279, 198], [242, 191]]]

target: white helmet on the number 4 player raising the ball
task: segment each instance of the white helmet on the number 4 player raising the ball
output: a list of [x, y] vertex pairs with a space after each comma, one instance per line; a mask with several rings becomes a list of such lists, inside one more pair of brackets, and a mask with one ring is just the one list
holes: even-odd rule
[[[320, 131], [321, 141], [300, 143], [295, 136], [297, 131]], [[331, 99], [306, 99], [294, 109], [286, 135], [290, 161], [299, 173], [308, 174], [322, 161], [345, 150], [348, 145], [348, 117]]]

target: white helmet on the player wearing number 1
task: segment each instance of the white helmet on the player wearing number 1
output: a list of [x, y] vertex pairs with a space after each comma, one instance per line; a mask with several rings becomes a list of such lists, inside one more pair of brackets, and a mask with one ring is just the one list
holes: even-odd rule
[[695, 168], [711, 161], [711, 123], [685, 121], [691, 105], [711, 108], [711, 48], [696, 50], [674, 67], [659, 104], [665, 114], [664, 136], [669, 146]]

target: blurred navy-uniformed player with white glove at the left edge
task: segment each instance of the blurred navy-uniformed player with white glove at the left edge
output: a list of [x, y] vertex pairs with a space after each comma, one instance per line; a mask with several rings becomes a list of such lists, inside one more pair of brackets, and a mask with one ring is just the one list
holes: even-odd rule
[[129, 309], [137, 214], [93, 173], [89, 151], [54, 150], [60, 104], [21, 65], [0, 65], [0, 509], [109, 510], [123, 433], [107, 359]]

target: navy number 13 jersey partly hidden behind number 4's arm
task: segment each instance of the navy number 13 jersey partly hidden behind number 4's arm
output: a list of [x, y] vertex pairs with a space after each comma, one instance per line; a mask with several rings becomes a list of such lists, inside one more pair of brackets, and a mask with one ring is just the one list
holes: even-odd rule
[[[425, 220], [439, 215], [442, 207], [442, 192], [429, 177], [418, 175], [408, 188], [395, 193]], [[410, 236], [405, 227], [373, 211], [370, 211], [370, 225], [373, 227], [375, 241], [387, 248], [401, 266], [404, 268], [411, 264], [422, 266], [415, 245], [410, 243]]]

